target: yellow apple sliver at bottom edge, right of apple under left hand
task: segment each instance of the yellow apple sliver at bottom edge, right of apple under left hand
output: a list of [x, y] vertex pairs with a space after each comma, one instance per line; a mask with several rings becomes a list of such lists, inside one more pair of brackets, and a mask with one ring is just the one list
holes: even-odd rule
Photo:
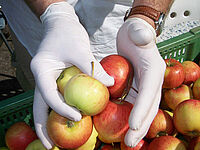
[[97, 142], [97, 136], [98, 133], [93, 125], [92, 134], [90, 135], [89, 139], [75, 150], [93, 150]]

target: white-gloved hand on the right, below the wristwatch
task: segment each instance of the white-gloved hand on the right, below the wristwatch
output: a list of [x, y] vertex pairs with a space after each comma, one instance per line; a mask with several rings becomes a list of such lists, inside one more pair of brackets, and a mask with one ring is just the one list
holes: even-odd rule
[[134, 79], [126, 100], [134, 107], [129, 117], [125, 144], [136, 146], [157, 114], [166, 65], [155, 43], [153, 27], [140, 18], [129, 18], [118, 31], [118, 53], [130, 60]]

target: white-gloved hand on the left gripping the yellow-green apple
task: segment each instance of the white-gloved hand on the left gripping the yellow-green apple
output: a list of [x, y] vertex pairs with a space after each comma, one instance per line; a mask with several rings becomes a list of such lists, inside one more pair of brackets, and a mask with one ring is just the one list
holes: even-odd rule
[[56, 79], [64, 68], [77, 66], [83, 73], [92, 75], [106, 86], [112, 86], [114, 79], [102, 68], [90, 51], [89, 37], [72, 6], [67, 2], [51, 4], [40, 17], [43, 40], [37, 54], [31, 61], [36, 89], [34, 96], [34, 122], [36, 133], [47, 149], [52, 142], [46, 133], [48, 107], [62, 116], [79, 121], [80, 112], [68, 106], [57, 90]]

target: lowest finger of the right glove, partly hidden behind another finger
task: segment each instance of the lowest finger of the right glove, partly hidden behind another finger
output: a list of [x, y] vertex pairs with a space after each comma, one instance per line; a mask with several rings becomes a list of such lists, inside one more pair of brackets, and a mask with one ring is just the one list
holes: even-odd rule
[[[156, 95], [156, 99], [160, 97], [160, 94]], [[124, 142], [129, 147], [135, 147], [147, 134], [149, 127], [158, 112], [159, 101], [155, 101], [151, 110], [147, 114], [142, 126], [138, 130], [129, 129], [125, 135]]]

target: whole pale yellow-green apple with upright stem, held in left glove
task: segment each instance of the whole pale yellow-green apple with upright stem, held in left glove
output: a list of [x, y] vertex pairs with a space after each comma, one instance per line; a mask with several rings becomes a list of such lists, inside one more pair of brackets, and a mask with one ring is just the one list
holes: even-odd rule
[[73, 76], [64, 89], [67, 104], [79, 109], [83, 115], [93, 116], [100, 113], [108, 104], [108, 88], [86, 74]]

